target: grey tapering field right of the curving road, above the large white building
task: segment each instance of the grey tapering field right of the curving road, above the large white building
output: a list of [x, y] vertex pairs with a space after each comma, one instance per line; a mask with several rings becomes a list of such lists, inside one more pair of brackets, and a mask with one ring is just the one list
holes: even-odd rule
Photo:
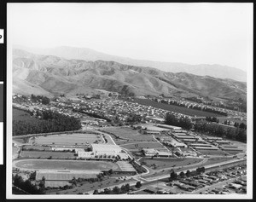
[[103, 130], [113, 133], [115, 136], [119, 136], [119, 138], [129, 139], [132, 141], [155, 141], [152, 136], [142, 135], [137, 130], [132, 130], [129, 127], [111, 127]]

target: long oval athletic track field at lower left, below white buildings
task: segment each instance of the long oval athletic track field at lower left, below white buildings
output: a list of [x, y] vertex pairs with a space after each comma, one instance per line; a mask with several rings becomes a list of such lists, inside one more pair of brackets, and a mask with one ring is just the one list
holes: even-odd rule
[[120, 170], [117, 164], [106, 161], [79, 160], [43, 160], [24, 159], [14, 161], [13, 164], [22, 169], [31, 170]]

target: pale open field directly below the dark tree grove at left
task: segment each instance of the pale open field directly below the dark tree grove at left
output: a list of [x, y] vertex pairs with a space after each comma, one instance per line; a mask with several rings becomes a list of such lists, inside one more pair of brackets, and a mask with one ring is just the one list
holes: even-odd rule
[[50, 136], [37, 136], [34, 141], [38, 145], [85, 146], [86, 143], [104, 142], [102, 136], [95, 134], [73, 133]]

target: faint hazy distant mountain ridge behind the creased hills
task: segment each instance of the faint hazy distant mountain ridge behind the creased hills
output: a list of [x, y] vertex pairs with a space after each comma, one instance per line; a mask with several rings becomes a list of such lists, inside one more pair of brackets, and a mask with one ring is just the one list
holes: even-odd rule
[[[16, 46], [20, 48], [19, 46]], [[211, 76], [214, 78], [230, 78], [236, 81], [246, 82], [247, 73], [230, 66], [221, 65], [189, 65], [180, 62], [162, 62], [162, 61], [143, 61], [135, 60], [127, 57], [108, 55], [98, 52], [94, 49], [74, 48], [61, 46], [52, 49], [32, 49], [21, 47], [26, 51], [39, 55], [55, 55], [66, 59], [76, 59], [84, 61], [116, 61], [121, 64], [130, 66], [151, 66], [164, 72], [188, 72], [198, 76]]]

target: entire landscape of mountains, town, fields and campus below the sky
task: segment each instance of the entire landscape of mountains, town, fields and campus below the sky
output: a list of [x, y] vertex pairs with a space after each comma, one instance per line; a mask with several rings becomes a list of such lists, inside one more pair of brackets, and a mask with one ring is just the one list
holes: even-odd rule
[[245, 69], [62, 44], [12, 46], [13, 194], [247, 194]]

